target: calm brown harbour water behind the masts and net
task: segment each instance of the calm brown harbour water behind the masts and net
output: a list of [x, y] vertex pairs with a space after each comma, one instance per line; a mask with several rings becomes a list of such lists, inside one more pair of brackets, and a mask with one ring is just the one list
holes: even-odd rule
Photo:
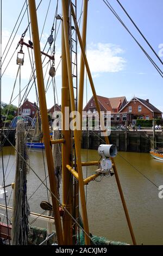
[[[5, 147], [3, 154], [7, 185], [14, 182], [15, 152], [12, 148]], [[89, 150], [88, 156], [90, 161], [99, 159], [96, 150]], [[45, 179], [42, 151], [30, 150], [29, 158], [30, 166], [39, 174], [41, 179]], [[86, 161], [86, 150], [82, 150], [82, 159]], [[116, 157], [117, 170], [137, 243], [163, 245], [163, 199], [158, 197], [158, 188], [124, 159], [158, 186], [163, 185], [163, 163], [144, 153], [120, 152]], [[0, 184], [2, 185], [2, 161], [0, 164]], [[87, 175], [91, 175], [95, 169], [96, 167], [89, 167]], [[84, 175], [86, 175], [86, 168], [84, 169]], [[87, 186], [86, 199], [90, 232], [94, 235], [105, 236], [109, 240], [131, 243], [115, 177], [105, 177], [102, 180], [97, 178], [97, 180], [101, 182], [91, 181]], [[39, 185], [40, 181], [30, 170], [28, 174], [28, 197], [33, 194]], [[11, 188], [8, 188], [8, 200], [10, 194]], [[29, 200], [30, 210], [41, 213], [40, 202], [46, 199], [46, 188], [41, 185]], [[2, 201], [0, 203], [4, 204]], [[9, 205], [12, 206], [12, 194]], [[4, 211], [0, 210], [0, 212], [4, 214]], [[33, 225], [44, 225], [46, 227], [45, 223], [37, 221]]]

